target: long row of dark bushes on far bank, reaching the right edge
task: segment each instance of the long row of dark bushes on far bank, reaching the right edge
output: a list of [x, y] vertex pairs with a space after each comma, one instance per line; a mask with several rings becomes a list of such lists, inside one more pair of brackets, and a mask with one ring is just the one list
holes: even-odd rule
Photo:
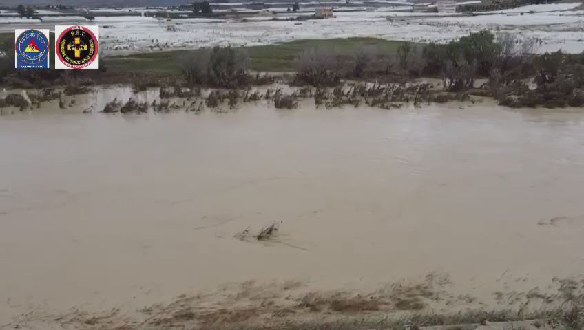
[[353, 54], [332, 49], [304, 52], [296, 63], [298, 85], [337, 85], [343, 78], [379, 78], [397, 81], [440, 77], [445, 91], [479, 86], [511, 107], [565, 107], [584, 105], [584, 54], [561, 51], [534, 55], [534, 41], [513, 34], [497, 37], [488, 31], [471, 33], [447, 44], [403, 43], [395, 54], [359, 48]]

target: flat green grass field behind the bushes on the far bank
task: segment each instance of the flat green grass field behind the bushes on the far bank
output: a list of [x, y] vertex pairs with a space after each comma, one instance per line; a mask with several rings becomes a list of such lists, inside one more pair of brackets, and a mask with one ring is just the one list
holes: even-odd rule
[[[255, 71], [284, 72], [293, 69], [293, 61], [304, 50], [312, 47], [335, 47], [350, 52], [357, 47], [376, 46], [387, 52], [395, 52], [400, 41], [387, 41], [376, 38], [348, 39], [305, 39], [289, 43], [242, 47], [251, 58], [251, 69]], [[110, 56], [105, 59], [110, 69], [126, 72], [178, 72], [177, 63], [181, 57], [197, 50], [171, 50], [132, 54], [128, 56]]]

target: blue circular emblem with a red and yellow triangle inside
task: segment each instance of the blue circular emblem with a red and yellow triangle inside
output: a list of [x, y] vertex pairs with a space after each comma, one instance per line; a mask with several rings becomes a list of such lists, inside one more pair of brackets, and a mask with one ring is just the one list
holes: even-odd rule
[[26, 30], [18, 36], [15, 46], [20, 63], [45, 67], [50, 47], [45, 34], [37, 30]]

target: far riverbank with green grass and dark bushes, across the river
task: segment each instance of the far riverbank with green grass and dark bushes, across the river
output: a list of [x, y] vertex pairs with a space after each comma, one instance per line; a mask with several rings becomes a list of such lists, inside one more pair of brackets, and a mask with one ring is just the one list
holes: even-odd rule
[[[179, 95], [186, 88], [190, 96], [198, 96], [196, 91], [201, 88], [214, 87], [229, 89], [223, 98], [238, 98], [243, 91], [278, 82], [305, 89], [316, 87], [317, 95], [322, 89], [334, 87], [336, 100], [332, 104], [355, 104], [357, 98], [375, 96], [383, 99], [365, 101], [387, 108], [389, 102], [410, 102], [410, 96], [417, 104], [418, 96], [422, 96], [422, 102], [446, 102], [477, 95], [492, 97], [509, 107], [583, 106], [583, 56], [560, 50], [532, 54], [535, 41], [517, 38], [514, 34], [495, 36], [483, 30], [446, 45], [331, 39], [260, 47], [213, 47], [106, 57], [99, 70], [80, 72], [15, 71], [5, 56], [2, 83], [24, 89], [65, 86], [65, 91], [132, 83], [138, 91], [160, 87], [161, 93], [173, 89]], [[269, 71], [262, 74], [260, 69]], [[293, 72], [287, 74], [291, 69]], [[417, 83], [437, 77], [439, 84]], [[483, 83], [478, 83], [480, 80]], [[344, 87], [353, 82], [366, 87], [350, 90], [348, 95]], [[367, 90], [371, 82], [377, 86], [375, 91]], [[410, 93], [408, 89], [414, 87], [418, 90]], [[404, 90], [408, 91], [405, 97], [401, 93]], [[315, 102], [319, 102], [316, 98]], [[292, 99], [289, 101], [293, 104]]]

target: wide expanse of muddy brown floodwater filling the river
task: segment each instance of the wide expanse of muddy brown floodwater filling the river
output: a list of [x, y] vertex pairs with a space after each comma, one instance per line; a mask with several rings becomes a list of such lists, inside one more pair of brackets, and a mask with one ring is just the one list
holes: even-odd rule
[[[545, 289], [584, 273], [583, 119], [310, 102], [0, 118], [0, 325], [226, 283], [372, 292], [442, 274], [485, 306]], [[272, 240], [234, 237], [273, 223]]]

